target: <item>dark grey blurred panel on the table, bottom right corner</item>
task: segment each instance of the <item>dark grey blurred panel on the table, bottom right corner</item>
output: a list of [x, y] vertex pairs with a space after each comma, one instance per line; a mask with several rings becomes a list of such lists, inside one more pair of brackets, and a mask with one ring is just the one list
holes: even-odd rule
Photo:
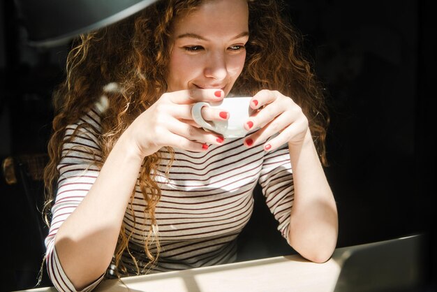
[[[415, 292], [424, 290], [429, 251], [425, 235], [357, 245], [341, 254], [334, 292]], [[339, 249], [341, 252], [341, 249]]]

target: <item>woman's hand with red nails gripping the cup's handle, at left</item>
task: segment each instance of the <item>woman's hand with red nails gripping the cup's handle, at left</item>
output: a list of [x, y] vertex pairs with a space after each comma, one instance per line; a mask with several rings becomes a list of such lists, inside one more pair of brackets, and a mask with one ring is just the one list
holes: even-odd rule
[[[220, 89], [188, 89], [167, 92], [138, 116], [125, 131], [141, 157], [157, 152], [161, 147], [201, 152], [208, 144], [221, 145], [223, 137], [200, 128], [191, 117], [191, 108], [198, 101], [221, 101]], [[205, 112], [205, 111], [203, 111]], [[204, 116], [205, 117], [205, 116]], [[207, 120], [219, 120], [220, 112], [207, 112]]]

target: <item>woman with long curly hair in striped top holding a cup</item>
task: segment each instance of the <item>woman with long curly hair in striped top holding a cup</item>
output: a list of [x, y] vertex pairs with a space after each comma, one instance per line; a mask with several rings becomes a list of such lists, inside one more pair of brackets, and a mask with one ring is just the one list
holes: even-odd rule
[[[232, 262], [257, 183], [290, 246], [327, 261], [337, 213], [313, 142], [325, 159], [327, 122], [297, 40], [273, 0], [168, 0], [75, 43], [45, 172], [57, 289]], [[230, 94], [253, 96], [259, 131], [193, 122], [193, 103]]]

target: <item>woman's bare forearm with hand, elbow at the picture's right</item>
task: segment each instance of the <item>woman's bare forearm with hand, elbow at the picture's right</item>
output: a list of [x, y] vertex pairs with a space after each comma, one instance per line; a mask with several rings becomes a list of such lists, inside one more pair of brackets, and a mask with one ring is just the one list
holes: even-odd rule
[[288, 143], [294, 184], [288, 242], [311, 261], [327, 261], [336, 246], [337, 211], [308, 119], [291, 98], [276, 91], [258, 92], [251, 107], [258, 112], [249, 118], [246, 129], [259, 126], [260, 130], [246, 138], [248, 147], [265, 143], [265, 151], [273, 151]]

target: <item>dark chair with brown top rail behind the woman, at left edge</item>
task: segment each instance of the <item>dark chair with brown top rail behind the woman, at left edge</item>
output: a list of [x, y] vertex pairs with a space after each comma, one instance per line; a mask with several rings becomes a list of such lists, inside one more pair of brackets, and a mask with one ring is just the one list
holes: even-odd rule
[[[47, 162], [47, 154], [8, 156], [1, 161], [4, 178], [1, 185], [6, 190], [3, 199], [13, 210], [8, 217], [8, 222], [12, 222], [8, 234], [13, 241], [5, 259], [10, 267], [7, 272], [9, 277], [3, 283], [8, 291], [31, 289], [38, 283], [45, 254], [44, 240], [48, 233], [41, 213], [44, 203], [43, 172]], [[50, 284], [43, 268], [40, 286]]]

